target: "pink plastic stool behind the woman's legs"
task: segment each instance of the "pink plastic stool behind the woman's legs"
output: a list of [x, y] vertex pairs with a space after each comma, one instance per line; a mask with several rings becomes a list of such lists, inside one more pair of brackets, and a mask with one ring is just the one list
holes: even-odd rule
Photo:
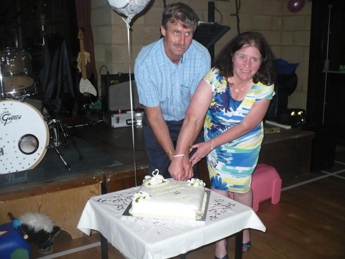
[[251, 189], [253, 191], [252, 209], [258, 210], [258, 203], [271, 198], [271, 203], [280, 200], [281, 178], [275, 168], [268, 164], [259, 163], [251, 176]]

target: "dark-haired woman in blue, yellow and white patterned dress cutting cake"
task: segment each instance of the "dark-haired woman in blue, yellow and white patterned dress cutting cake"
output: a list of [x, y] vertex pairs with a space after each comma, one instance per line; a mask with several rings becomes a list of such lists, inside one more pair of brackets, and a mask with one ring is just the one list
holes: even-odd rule
[[[224, 196], [233, 192], [234, 200], [251, 207], [251, 173], [274, 80], [273, 54], [260, 33], [243, 32], [227, 43], [192, 96], [168, 169], [171, 176], [192, 175], [185, 165], [188, 142], [204, 121], [205, 141], [191, 146], [197, 148], [191, 165], [207, 155], [211, 189]], [[249, 231], [244, 230], [242, 250], [250, 245]], [[215, 258], [227, 258], [224, 239], [216, 242]]]

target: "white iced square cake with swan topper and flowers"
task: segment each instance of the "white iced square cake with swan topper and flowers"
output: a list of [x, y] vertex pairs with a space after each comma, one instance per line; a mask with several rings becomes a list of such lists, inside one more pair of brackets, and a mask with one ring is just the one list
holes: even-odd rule
[[204, 213], [207, 194], [202, 180], [164, 179], [156, 169], [146, 175], [133, 195], [129, 213], [133, 216], [174, 219], [200, 219]]

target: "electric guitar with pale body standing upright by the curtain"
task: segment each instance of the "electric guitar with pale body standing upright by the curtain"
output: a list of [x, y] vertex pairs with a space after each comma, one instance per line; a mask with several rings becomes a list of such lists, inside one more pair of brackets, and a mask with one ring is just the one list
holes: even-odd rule
[[79, 60], [80, 62], [80, 70], [81, 70], [81, 78], [79, 82], [79, 91], [83, 93], [90, 93], [94, 96], [97, 95], [97, 91], [92, 85], [92, 83], [87, 79], [86, 76], [86, 62], [89, 61], [89, 53], [84, 51], [84, 35], [82, 33], [82, 30], [79, 28], [78, 31], [78, 39], [80, 44], [80, 53], [79, 53]]

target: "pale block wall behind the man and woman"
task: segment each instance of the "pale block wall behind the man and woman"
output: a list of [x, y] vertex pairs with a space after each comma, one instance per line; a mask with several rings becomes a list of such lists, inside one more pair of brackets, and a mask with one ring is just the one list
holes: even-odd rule
[[[166, 4], [176, 0], [166, 0]], [[208, 0], [180, 0], [191, 6], [201, 21], [207, 21]], [[304, 8], [292, 13], [287, 9], [287, 0], [241, 0], [239, 11], [240, 31], [260, 31], [271, 45], [275, 57], [290, 63], [299, 62], [296, 69], [298, 85], [289, 96], [288, 107], [306, 107], [308, 80], [309, 38], [311, 20], [311, 2]], [[222, 24], [231, 29], [220, 38], [215, 46], [215, 54], [223, 45], [237, 34], [235, 0], [214, 0], [215, 7], [222, 14]], [[130, 66], [143, 45], [159, 38], [162, 0], [151, 0], [149, 8], [137, 14], [131, 22], [129, 32]], [[214, 20], [220, 21], [220, 14], [215, 10]], [[110, 73], [128, 72], [128, 30], [121, 16], [113, 11], [106, 0], [91, 0], [91, 24], [94, 38], [94, 54], [97, 70], [106, 65]], [[102, 73], [105, 70], [101, 71]], [[100, 85], [100, 83], [98, 83]]]

